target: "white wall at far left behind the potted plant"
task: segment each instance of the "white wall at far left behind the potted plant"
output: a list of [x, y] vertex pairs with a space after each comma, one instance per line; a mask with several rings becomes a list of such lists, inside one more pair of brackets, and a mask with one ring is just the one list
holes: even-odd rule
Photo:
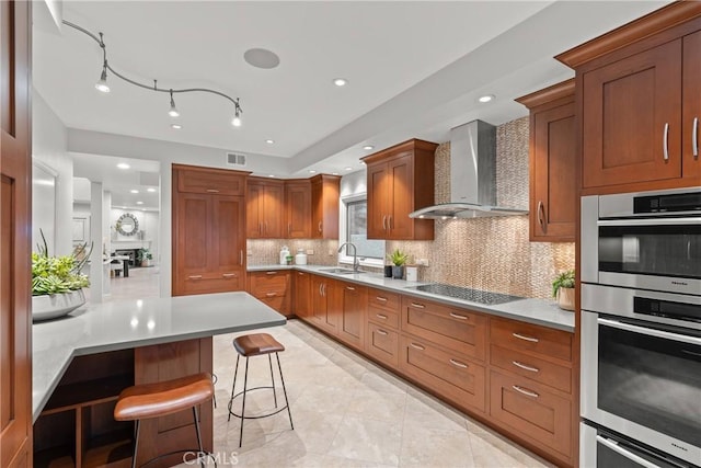
[[[37, 197], [33, 201], [35, 213], [32, 216], [32, 246], [38, 241], [38, 228], [51, 222], [39, 219], [47, 205], [55, 204], [55, 248], [51, 254], [67, 255], [72, 252], [72, 217], [73, 217], [73, 161], [68, 155], [68, 132], [44, 98], [32, 90], [32, 158], [57, 173], [56, 198]], [[45, 208], [45, 209], [42, 209]], [[50, 209], [50, 208], [49, 208]]]

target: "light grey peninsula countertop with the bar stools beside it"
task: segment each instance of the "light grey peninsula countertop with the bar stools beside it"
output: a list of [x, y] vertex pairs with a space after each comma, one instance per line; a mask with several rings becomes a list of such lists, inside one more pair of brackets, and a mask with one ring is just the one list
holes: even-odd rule
[[203, 294], [83, 306], [32, 327], [34, 421], [73, 356], [171, 343], [257, 328], [286, 319], [248, 293]]

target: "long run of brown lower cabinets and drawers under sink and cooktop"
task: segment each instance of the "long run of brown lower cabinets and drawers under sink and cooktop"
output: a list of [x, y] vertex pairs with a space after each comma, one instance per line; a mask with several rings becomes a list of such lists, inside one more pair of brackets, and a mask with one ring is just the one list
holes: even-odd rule
[[310, 276], [310, 286], [300, 285], [313, 313], [298, 317], [559, 466], [574, 466], [572, 333], [374, 287], [364, 310], [364, 286]]

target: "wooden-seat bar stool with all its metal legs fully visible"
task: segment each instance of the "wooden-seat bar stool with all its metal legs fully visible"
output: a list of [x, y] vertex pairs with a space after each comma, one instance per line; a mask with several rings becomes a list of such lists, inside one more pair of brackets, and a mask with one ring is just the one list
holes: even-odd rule
[[[285, 378], [283, 377], [283, 367], [280, 367], [280, 356], [279, 356], [279, 352], [280, 351], [285, 351], [285, 346], [283, 346], [280, 343], [278, 343], [273, 336], [271, 336], [267, 333], [253, 333], [253, 334], [246, 334], [243, 336], [239, 336], [237, 339], [233, 340], [233, 349], [237, 350], [237, 367], [235, 370], [233, 372], [233, 385], [231, 386], [231, 399], [229, 400], [229, 418], [228, 421], [231, 421], [231, 415], [233, 414], [237, 418], [241, 419], [241, 431], [239, 433], [239, 447], [241, 447], [241, 443], [243, 442], [243, 420], [255, 420], [255, 419], [261, 419], [261, 418], [267, 418], [267, 416], [272, 416], [274, 414], [279, 413], [280, 411], [287, 409], [287, 415], [289, 416], [289, 425], [292, 429], [292, 431], [295, 430], [295, 425], [292, 424], [292, 413], [290, 413], [289, 411], [289, 401], [287, 401], [287, 389], [285, 388]], [[271, 354], [275, 353], [275, 357], [277, 358], [277, 369], [279, 372], [280, 375], [280, 380], [283, 383], [283, 393], [285, 395], [285, 406], [283, 408], [279, 408], [273, 412], [269, 412], [267, 414], [261, 414], [257, 416], [246, 416], [245, 415], [245, 395], [249, 391], [253, 391], [253, 390], [258, 390], [258, 389], [265, 389], [265, 388], [271, 388], [273, 389], [273, 398], [275, 401], [275, 408], [277, 408], [277, 392], [275, 390], [275, 376], [273, 375], [273, 359], [271, 357]], [[249, 357], [252, 356], [262, 356], [264, 354], [267, 354], [267, 362], [268, 365], [271, 367], [271, 380], [272, 380], [272, 385], [268, 386], [263, 386], [263, 387], [253, 387], [253, 388], [248, 388], [248, 380], [249, 380]], [[241, 358], [241, 356], [245, 357], [245, 373], [243, 375], [243, 390], [238, 392], [237, 395], [233, 395], [233, 390], [237, 386], [237, 376], [239, 374], [239, 359]], [[241, 414], [237, 414], [233, 411], [231, 411], [231, 406], [233, 404], [233, 399], [239, 397], [239, 396], [243, 396], [243, 402], [241, 404]]]

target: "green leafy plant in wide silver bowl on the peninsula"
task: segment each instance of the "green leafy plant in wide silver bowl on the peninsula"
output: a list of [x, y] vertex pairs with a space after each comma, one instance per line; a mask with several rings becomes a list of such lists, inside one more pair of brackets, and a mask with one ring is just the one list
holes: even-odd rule
[[92, 252], [88, 242], [70, 255], [48, 254], [44, 232], [38, 253], [32, 252], [32, 318], [35, 321], [65, 316], [85, 304], [82, 288], [90, 286], [81, 270]]

